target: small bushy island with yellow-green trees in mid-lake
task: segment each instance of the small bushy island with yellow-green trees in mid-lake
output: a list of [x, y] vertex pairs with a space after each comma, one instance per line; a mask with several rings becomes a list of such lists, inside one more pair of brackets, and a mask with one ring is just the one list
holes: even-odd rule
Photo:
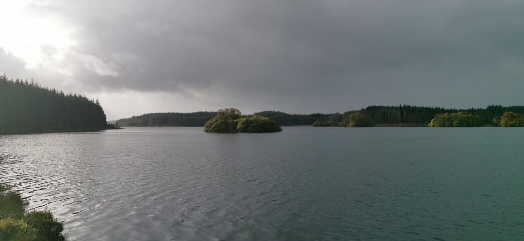
[[281, 130], [282, 128], [269, 117], [257, 114], [242, 115], [235, 108], [219, 109], [216, 116], [204, 125], [204, 132], [216, 133], [265, 133]]

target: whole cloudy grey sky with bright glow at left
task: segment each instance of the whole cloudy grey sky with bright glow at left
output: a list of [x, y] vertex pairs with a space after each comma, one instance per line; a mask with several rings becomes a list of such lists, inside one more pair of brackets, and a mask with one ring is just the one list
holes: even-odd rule
[[0, 72], [152, 112], [524, 104], [524, 1], [0, 0]]

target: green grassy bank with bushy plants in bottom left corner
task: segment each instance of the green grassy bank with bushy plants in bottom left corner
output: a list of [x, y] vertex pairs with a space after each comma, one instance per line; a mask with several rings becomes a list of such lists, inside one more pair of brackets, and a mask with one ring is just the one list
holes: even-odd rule
[[26, 211], [19, 193], [0, 183], [0, 240], [62, 241], [63, 224], [49, 211]]

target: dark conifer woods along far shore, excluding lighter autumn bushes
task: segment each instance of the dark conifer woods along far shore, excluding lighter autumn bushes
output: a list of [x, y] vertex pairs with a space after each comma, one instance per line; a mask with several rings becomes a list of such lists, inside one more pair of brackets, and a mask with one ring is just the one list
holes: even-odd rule
[[[354, 113], [362, 113], [373, 119], [377, 125], [381, 124], [416, 124], [425, 126], [431, 122], [435, 115], [440, 113], [467, 112], [477, 115], [482, 123], [489, 125], [494, 118], [500, 118], [505, 112], [524, 113], [524, 106], [503, 107], [490, 105], [487, 108], [469, 109], [446, 109], [441, 107], [424, 107], [411, 105], [397, 106], [368, 106], [356, 111], [348, 111], [342, 114], [288, 114], [279, 111], [263, 111], [257, 115], [269, 117], [280, 126], [312, 125], [314, 122], [340, 123], [347, 121]], [[150, 113], [130, 118], [119, 119], [119, 126], [204, 126], [204, 124], [216, 116], [216, 112], [193, 112], [193, 113]], [[409, 125], [407, 125], [409, 126]]]

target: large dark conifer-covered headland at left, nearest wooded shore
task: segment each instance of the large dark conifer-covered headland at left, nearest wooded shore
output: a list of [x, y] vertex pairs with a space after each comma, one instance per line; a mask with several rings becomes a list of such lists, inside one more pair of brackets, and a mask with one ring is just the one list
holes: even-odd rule
[[109, 128], [98, 101], [0, 75], [0, 134]]

